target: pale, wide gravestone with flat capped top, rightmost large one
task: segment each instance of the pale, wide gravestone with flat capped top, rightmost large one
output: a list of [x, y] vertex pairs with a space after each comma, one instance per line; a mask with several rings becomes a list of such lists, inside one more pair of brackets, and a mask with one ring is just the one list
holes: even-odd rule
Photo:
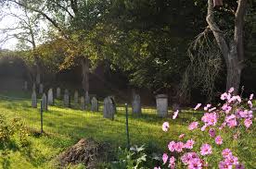
[[166, 94], [159, 94], [156, 96], [157, 112], [159, 116], [166, 116], [168, 114], [168, 96]]

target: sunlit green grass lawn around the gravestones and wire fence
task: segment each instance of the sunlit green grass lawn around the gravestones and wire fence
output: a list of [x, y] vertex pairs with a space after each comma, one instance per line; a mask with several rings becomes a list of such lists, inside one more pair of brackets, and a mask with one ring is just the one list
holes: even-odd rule
[[[0, 96], [0, 114], [6, 118], [19, 116], [27, 127], [40, 131], [40, 109], [31, 108], [29, 93], [6, 92], [3, 95]], [[29, 136], [32, 142], [30, 150], [11, 151], [8, 159], [0, 158], [0, 168], [53, 168], [53, 159], [82, 138], [107, 141], [113, 150], [119, 146], [126, 146], [125, 112], [122, 105], [117, 108], [115, 119], [111, 121], [103, 118], [102, 112], [85, 112], [65, 108], [61, 104], [57, 101], [57, 106], [50, 106], [44, 113], [45, 135]], [[102, 107], [100, 109], [102, 110]], [[174, 121], [171, 118], [158, 117], [156, 111], [150, 107], [143, 109], [143, 112], [143, 115], [135, 116], [129, 108], [131, 144], [146, 144], [153, 147], [154, 151], [162, 151], [166, 148], [168, 140], [177, 139], [180, 133], [185, 132], [186, 120], [191, 120], [192, 117], [191, 112], [185, 111]], [[197, 115], [200, 116], [198, 113]], [[171, 124], [171, 131], [168, 134], [161, 130], [161, 125], [166, 120]]]

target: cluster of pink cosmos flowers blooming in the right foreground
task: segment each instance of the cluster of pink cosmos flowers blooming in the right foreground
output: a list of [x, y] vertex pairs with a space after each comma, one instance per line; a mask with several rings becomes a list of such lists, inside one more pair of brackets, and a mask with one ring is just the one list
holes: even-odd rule
[[[250, 98], [244, 104], [241, 97], [234, 95], [233, 91], [234, 88], [231, 88], [228, 92], [224, 92], [221, 95], [221, 100], [224, 102], [222, 105], [213, 107], [208, 103], [203, 106], [202, 109], [205, 113], [201, 117], [201, 122], [194, 121], [187, 127], [190, 132], [193, 130], [200, 130], [199, 132], [205, 133], [207, 131], [209, 135], [209, 139], [207, 140], [209, 140], [209, 142], [200, 143], [199, 141], [196, 141], [197, 139], [195, 138], [187, 139], [186, 141], [170, 141], [167, 146], [170, 152], [165, 152], [162, 155], [164, 166], [166, 166], [167, 163], [168, 167], [173, 169], [175, 168], [176, 163], [179, 162], [188, 169], [211, 168], [212, 165], [207, 162], [207, 158], [214, 153], [218, 153], [217, 155], [222, 157], [222, 160], [218, 162], [218, 167], [220, 169], [245, 168], [230, 149], [221, 147], [225, 141], [228, 141], [227, 138], [222, 135], [222, 130], [225, 130], [225, 128], [233, 130], [233, 132], [231, 132], [233, 134], [233, 139], [238, 139], [240, 134], [239, 130], [241, 130], [241, 128], [249, 130], [252, 125], [253, 105], [251, 101], [253, 99], [253, 94], [250, 94]], [[198, 110], [201, 106], [202, 104], [198, 103], [194, 110]], [[176, 116], [177, 115], [175, 115], [175, 117]], [[162, 130], [167, 132], [168, 129], [169, 123], [164, 122]], [[225, 131], [224, 133], [227, 132]], [[184, 139], [185, 136], [185, 134], [181, 134], [179, 139]], [[195, 149], [194, 145], [197, 144], [199, 150], [193, 150]], [[222, 151], [215, 151], [214, 147], [217, 147]], [[155, 167], [155, 169], [160, 169], [160, 166]]]

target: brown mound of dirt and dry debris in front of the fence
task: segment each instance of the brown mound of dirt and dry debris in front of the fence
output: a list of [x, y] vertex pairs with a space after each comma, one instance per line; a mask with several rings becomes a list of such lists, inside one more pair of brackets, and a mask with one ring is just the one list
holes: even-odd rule
[[62, 152], [58, 160], [61, 168], [70, 163], [83, 163], [88, 169], [96, 169], [98, 163], [108, 161], [109, 150], [107, 143], [98, 143], [94, 139], [80, 139], [70, 149]]

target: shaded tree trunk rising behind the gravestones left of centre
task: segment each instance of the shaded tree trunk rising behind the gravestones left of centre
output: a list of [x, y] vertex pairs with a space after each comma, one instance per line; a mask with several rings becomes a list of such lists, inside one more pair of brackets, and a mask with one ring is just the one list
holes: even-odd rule
[[87, 58], [83, 58], [82, 62], [82, 85], [83, 90], [89, 92], [89, 60]]

